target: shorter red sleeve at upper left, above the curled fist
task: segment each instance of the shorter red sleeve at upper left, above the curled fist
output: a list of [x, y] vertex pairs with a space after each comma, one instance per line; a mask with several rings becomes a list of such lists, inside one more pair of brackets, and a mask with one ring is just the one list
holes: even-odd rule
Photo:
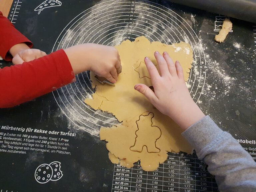
[[12, 55], [9, 50], [18, 43], [26, 43], [30, 48], [33, 46], [32, 42], [15, 29], [14, 25], [0, 11], [0, 56], [6, 61], [11, 61]]

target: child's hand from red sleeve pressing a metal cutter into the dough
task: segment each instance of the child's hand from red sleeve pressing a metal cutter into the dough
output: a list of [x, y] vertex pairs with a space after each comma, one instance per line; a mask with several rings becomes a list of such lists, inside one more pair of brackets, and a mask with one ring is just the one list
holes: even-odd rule
[[74, 74], [91, 70], [112, 83], [117, 81], [117, 69], [120, 68], [121, 62], [118, 51], [114, 47], [86, 43], [69, 47], [64, 51]]

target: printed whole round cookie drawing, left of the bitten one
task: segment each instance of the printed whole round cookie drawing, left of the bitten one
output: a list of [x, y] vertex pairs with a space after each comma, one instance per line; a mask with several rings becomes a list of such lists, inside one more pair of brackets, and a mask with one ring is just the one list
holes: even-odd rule
[[39, 165], [35, 171], [35, 179], [38, 183], [47, 183], [53, 175], [52, 167], [48, 164]]

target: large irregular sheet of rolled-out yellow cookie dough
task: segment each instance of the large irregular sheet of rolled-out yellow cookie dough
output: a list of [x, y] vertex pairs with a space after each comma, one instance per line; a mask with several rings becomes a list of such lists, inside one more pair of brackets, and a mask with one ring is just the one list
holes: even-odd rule
[[[96, 87], [96, 92], [92, 95], [93, 99], [85, 99], [85, 103], [93, 109], [112, 113], [121, 122], [120, 125], [100, 129], [100, 139], [107, 141], [106, 147], [110, 152], [111, 161], [117, 163], [120, 160], [120, 165], [132, 167], [133, 163], [140, 160], [143, 170], [154, 171], [158, 168], [159, 163], [163, 163], [167, 159], [167, 152], [192, 153], [193, 149], [181, 136], [181, 129], [178, 125], [169, 117], [161, 114], [142, 94], [134, 90], [134, 85], [137, 83], [152, 85], [150, 78], [147, 77], [149, 75], [144, 71], [146, 70], [144, 57], [149, 57], [157, 65], [154, 58], [156, 50], [160, 53], [167, 51], [174, 61], [179, 60], [184, 70], [185, 80], [187, 80], [193, 60], [190, 45], [184, 42], [173, 45], [160, 42], [150, 43], [147, 38], [142, 36], [136, 38], [134, 42], [123, 41], [116, 46], [116, 49], [119, 51], [123, 69], [115, 87], [101, 85], [91, 72], [92, 87]], [[140, 78], [138, 70], [135, 71], [139, 66], [139, 71], [144, 71], [142, 78]], [[147, 144], [144, 146], [141, 143], [142, 149], [141, 147], [133, 148], [134, 151], [130, 149], [136, 146], [136, 131], [138, 131], [136, 121], [140, 120], [141, 115], [149, 116], [150, 118], [144, 118], [144, 125], [150, 126], [150, 130], [156, 130], [156, 137], [148, 137], [155, 142], [155, 148], [150, 152], [147, 151]], [[147, 131], [146, 128], [142, 130]], [[147, 134], [139, 133], [139, 135], [147, 137]]]

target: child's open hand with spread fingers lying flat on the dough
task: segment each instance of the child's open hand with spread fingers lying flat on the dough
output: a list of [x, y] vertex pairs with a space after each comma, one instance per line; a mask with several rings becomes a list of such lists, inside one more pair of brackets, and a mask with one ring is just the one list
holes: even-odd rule
[[154, 92], [144, 84], [137, 84], [134, 89], [145, 95], [161, 113], [168, 115], [185, 130], [205, 115], [190, 96], [180, 63], [176, 61], [174, 64], [167, 52], [163, 56], [155, 52], [155, 58], [161, 75], [155, 65], [145, 58]]

